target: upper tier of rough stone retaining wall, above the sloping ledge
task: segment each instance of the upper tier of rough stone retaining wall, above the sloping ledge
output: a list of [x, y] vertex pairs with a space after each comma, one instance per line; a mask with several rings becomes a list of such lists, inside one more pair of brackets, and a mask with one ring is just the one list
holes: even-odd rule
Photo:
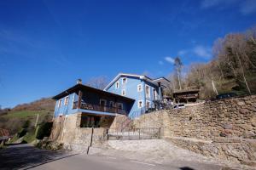
[[162, 127], [169, 137], [253, 139], [256, 138], [256, 95], [157, 111], [141, 116], [134, 121], [134, 126]]

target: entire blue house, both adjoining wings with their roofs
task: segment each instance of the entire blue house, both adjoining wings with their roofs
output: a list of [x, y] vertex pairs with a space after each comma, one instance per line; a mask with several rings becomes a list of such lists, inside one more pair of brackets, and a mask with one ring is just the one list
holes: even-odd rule
[[[91, 88], [81, 80], [72, 88], [55, 95], [55, 117], [79, 113], [80, 127], [109, 127], [117, 115], [135, 118], [153, 109], [160, 109], [163, 88], [169, 82], [160, 77], [120, 73], [104, 90]], [[103, 125], [103, 122], [110, 123]], [[108, 121], [107, 121], [108, 122]], [[106, 123], [105, 123], [106, 124]]]

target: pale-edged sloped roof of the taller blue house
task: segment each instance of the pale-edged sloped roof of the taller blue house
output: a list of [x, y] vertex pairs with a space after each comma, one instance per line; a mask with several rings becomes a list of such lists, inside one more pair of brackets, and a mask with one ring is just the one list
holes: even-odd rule
[[142, 79], [142, 80], [145, 80], [148, 82], [152, 82], [154, 84], [157, 84], [157, 82], [161, 82], [163, 87], [166, 87], [165, 84], [167, 82], [170, 82], [168, 79], [166, 79], [166, 77], [159, 77], [159, 78], [152, 79], [150, 77], [143, 76], [143, 75], [119, 73], [116, 77], [113, 78], [113, 80], [111, 82], [108, 83], [108, 85], [106, 86], [106, 88], [104, 88], [104, 90], [107, 90], [110, 86], [112, 86], [113, 83], [119, 79], [119, 77], [137, 77], [139, 79]]

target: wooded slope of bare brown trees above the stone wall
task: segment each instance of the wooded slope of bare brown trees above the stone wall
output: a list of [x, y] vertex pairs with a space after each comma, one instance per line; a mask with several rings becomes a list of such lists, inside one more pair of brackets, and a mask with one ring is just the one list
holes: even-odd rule
[[[179, 74], [184, 75], [180, 78], [182, 87], [200, 88], [202, 99], [216, 95], [212, 82], [219, 94], [256, 93], [256, 27], [218, 38], [213, 44], [212, 55], [210, 62], [193, 63], [186, 74]], [[168, 93], [172, 94], [174, 89], [179, 89], [177, 69], [169, 78]]]

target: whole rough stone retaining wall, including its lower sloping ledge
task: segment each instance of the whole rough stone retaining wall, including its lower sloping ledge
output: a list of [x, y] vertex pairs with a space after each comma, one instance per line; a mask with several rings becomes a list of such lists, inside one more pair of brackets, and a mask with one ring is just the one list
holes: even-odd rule
[[229, 161], [256, 161], [256, 95], [139, 117], [134, 127], [161, 127], [185, 149]]

